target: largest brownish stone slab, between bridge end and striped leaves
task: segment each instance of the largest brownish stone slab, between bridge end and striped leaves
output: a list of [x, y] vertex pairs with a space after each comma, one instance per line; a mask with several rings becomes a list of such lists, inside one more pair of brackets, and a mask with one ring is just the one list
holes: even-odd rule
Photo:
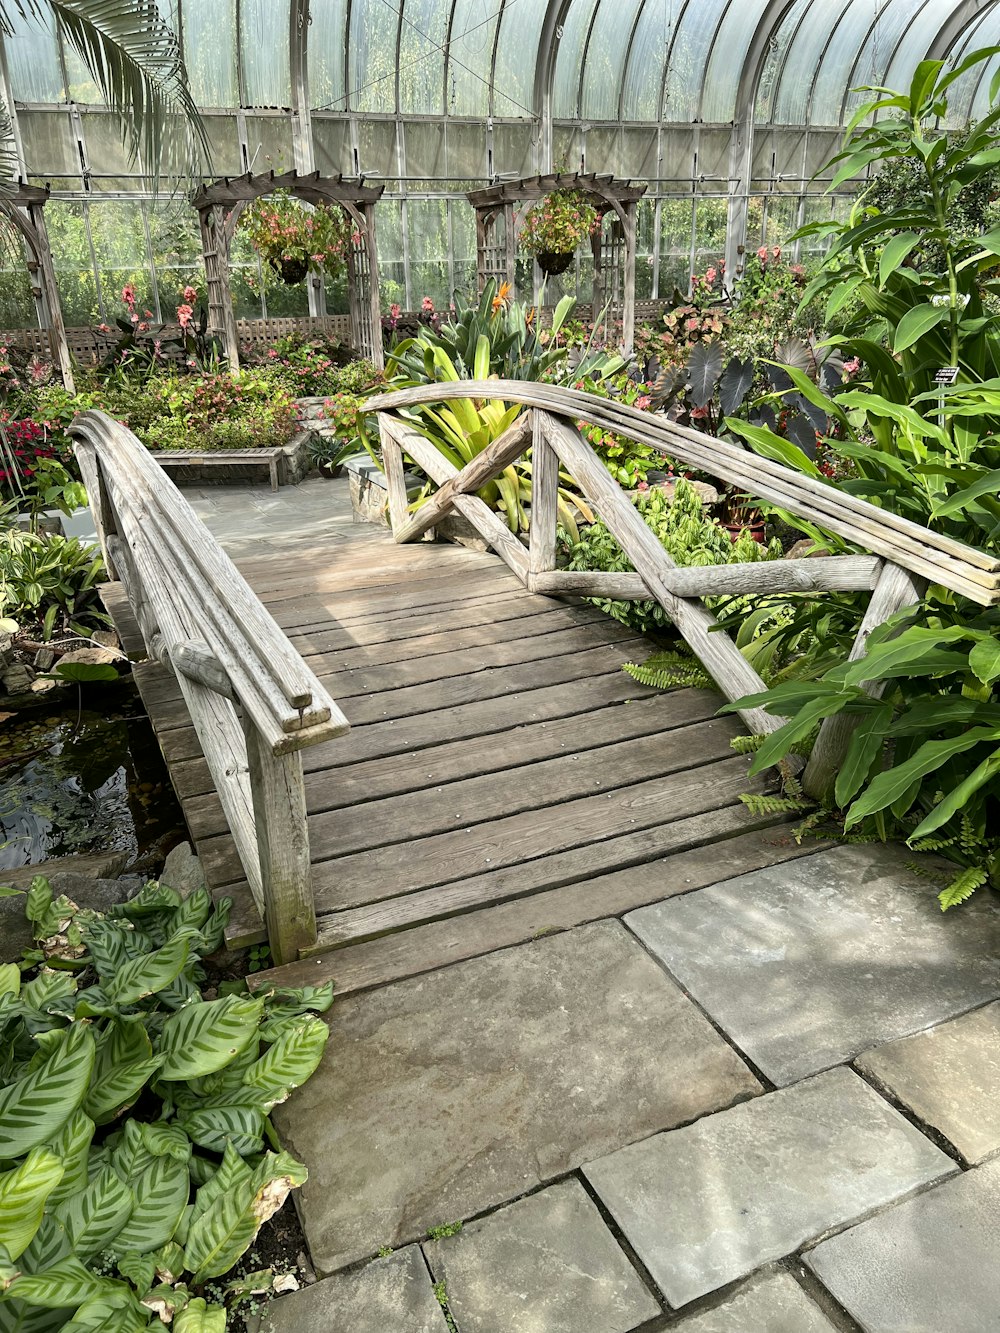
[[321, 1273], [760, 1092], [616, 921], [339, 1001], [277, 1109]]

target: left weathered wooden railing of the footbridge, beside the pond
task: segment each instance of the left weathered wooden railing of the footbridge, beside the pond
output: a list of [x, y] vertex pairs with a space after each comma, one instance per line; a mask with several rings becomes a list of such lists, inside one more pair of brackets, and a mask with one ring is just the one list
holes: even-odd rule
[[71, 427], [109, 576], [191, 713], [275, 960], [316, 940], [301, 750], [348, 722], [125, 427]]

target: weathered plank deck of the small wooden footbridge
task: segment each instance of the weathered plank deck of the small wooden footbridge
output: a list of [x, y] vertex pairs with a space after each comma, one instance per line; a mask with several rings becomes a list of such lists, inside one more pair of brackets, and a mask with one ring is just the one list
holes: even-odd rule
[[[595, 608], [368, 532], [240, 568], [352, 722], [303, 752], [320, 952], [261, 976], [359, 989], [800, 854], [740, 801], [717, 696], [636, 684], [620, 668], [649, 645]], [[176, 681], [136, 681], [209, 886], [236, 898], [231, 942], [260, 938]]]

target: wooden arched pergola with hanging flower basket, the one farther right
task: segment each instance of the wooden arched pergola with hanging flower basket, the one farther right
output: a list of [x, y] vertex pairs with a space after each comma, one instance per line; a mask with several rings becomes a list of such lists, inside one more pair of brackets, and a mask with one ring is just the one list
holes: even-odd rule
[[[593, 248], [593, 321], [621, 320], [621, 339], [632, 351], [636, 329], [636, 204], [648, 185], [599, 176], [596, 172], [552, 172], [521, 180], [495, 181], [465, 196], [476, 211], [476, 276], [480, 292], [491, 277], [515, 285], [517, 236], [528, 208], [555, 189], [579, 189], [591, 196], [601, 224]], [[611, 225], [605, 219], [611, 215]], [[503, 217], [503, 231], [497, 223]], [[607, 312], [605, 312], [607, 307]]]

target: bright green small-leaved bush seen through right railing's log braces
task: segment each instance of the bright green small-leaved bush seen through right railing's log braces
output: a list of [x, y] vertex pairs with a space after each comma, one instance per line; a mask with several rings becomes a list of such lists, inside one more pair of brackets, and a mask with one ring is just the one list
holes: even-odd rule
[[[763, 547], [747, 532], [733, 541], [721, 524], [707, 517], [697, 492], [683, 477], [676, 483], [673, 500], [663, 491], [651, 489], [639, 493], [636, 508], [667, 555], [679, 565], [753, 564], [781, 556], [780, 544]], [[632, 569], [628, 556], [601, 520], [591, 524], [576, 541], [564, 532], [561, 552], [567, 568], [573, 571], [624, 573]], [[671, 619], [659, 601], [613, 601], [605, 597], [592, 600], [607, 615], [640, 633], [671, 625]]]

